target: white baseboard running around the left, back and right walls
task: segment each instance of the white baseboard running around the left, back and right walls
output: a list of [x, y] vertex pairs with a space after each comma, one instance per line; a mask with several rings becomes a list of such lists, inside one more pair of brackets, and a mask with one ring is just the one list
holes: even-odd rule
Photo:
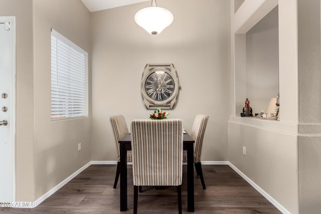
[[[86, 169], [90, 165], [94, 164], [105, 164], [105, 165], [115, 165], [117, 164], [117, 161], [90, 161], [80, 169], [78, 169], [76, 172], [74, 172], [72, 175], [70, 175], [68, 178], [66, 178], [64, 181], [59, 183], [57, 186], [52, 188], [50, 191], [45, 193], [43, 196], [38, 198], [35, 202], [28, 202], [30, 204], [29, 206], [19, 206], [19, 203], [24, 202], [17, 202], [17, 206], [13, 207], [21, 207], [21, 208], [34, 208], [38, 206], [41, 202], [43, 202], [45, 199], [47, 199], [49, 196], [51, 196], [53, 193], [55, 193], [58, 189], [60, 189], [62, 186], [64, 186], [66, 183], [68, 183], [71, 179], [76, 177], [80, 172], [82, 172], [84, 169]], [[131, 163], [128, 163], [131, 164]], [[229, 161], [202, 161], [202, 165], [229, 165], [234, 171], [236, 171], [243, 179], [245, 179], [251, 186], [253, 186], [259, 193], [261, 193], [267, 200], [269, 200], [277, 209], [279, 209], [284, 214], [290, 214], [290, 212], [285, 209], [281, 204], [279, 204], [274, 198], [272, 198], [268, 193], [266, 193], [263, 189], [261, 189], [258, 185], [256, 185], [250, 178], [248, 178], [243, 172], [241, 172], [238, 168], [236, 168], [232, 163]], [[25, 202], [26, 203], [26, 202]]]

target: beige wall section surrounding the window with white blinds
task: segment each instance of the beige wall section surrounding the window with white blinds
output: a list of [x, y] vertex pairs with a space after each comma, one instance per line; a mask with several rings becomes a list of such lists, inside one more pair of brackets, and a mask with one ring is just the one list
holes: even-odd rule
[[[78, 0], [34, 0], [34, 165], [39, 198], [90, 159], [90, 117], [51, 121], [51, 28], [88, 52], [91, 88], [90, 12]], [[91, 100], [89, 100], [89, 104]], [[89, 106], [89, 111], [91, 107]], [[81, 151], [78, 151], [81, 143]]]

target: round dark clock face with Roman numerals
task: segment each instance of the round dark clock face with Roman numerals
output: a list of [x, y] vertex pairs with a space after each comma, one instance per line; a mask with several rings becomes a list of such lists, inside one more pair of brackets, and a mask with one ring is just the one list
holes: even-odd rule
[[164, 70], [153, 70], [146, 75], [144, 90], [146, 95], [153, 101], [168, 101], [175, 94], [175, 83], [172, 74]]

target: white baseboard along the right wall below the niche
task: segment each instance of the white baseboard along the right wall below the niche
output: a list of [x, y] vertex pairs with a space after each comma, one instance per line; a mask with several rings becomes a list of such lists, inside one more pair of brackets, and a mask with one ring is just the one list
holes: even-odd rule
[[[203, 162], [202, 162], [203, 164]], [[284, 208], [281, 204], [279, 204], [273, 197], [271, 197], [268, 193], [266, 193], [261, 187], [256, 185], [250, 178], [248, 178], [243, 172], [241, 172], [238, 168], [236, 168], [232, 163], [228, 164], [234, 171], [236, 171], [244, 180], [246, 180], [251, 186], [253, 186], [263, 197], [265, 197], [268, 201], [270, 201], [278, 210], [280, 210], [283, 214], [291, 214], [286, 208]]]

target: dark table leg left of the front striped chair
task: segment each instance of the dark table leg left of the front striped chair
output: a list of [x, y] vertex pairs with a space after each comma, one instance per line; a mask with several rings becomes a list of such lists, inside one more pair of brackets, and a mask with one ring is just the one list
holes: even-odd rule
[[127, 151], [124, 144], [119, 144], [120, 153], [120, 211], [127, 210]]

